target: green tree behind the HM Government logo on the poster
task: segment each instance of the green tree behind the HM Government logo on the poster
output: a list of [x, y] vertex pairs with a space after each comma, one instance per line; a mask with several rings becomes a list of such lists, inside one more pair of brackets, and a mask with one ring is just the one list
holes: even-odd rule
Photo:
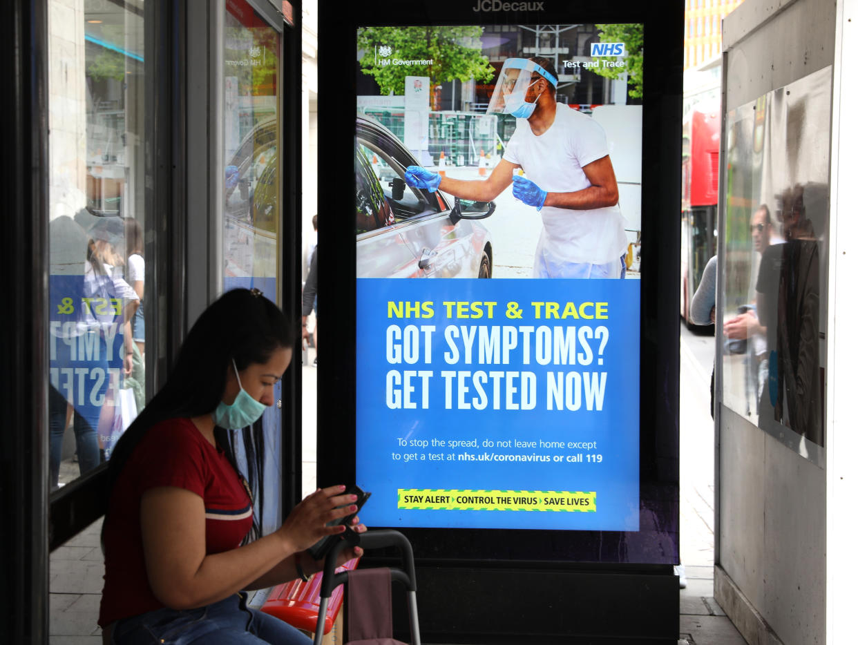
[[[366, 27], [358, 33], [360, 70], [372, 76], [382, 94], [405, 93], [406, 76], [429, 76], [432, 87], [445, 81], [491, 81], [495, 70], [483, 56], [482, 27]], [[389, 56], [379, 56], [389, 47]], [[385, 50], [386, 51], [386, 50]], [[379, 60], [432, 60], [426, 67], [380, 64]], [[430, 94], [432, 109], [438, 110], [438, 96]]]

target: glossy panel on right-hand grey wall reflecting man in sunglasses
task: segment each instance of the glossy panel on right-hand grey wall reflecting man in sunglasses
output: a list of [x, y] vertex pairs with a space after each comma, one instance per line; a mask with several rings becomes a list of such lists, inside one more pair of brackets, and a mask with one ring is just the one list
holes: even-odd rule
[[728, 114], [723, 401], [821, 465], [831, 68]]

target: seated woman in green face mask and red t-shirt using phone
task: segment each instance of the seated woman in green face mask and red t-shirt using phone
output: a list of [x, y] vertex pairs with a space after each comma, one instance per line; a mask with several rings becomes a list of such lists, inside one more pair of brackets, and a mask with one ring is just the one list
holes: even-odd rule
[[[317, 490], [261, 537], [253, 499], [263, 493], [263, 473], [250, 467], [248, 483], [229, 436], [244, 429], [247, 462], [264, 463], [261, 430], [247, 426], [275, 402], [295, 341], [293, 326], [260, 292], [225, 293], [202, 313], [164, 388], [119, 440], [102, 528], [105, 642], [310, 642], [249, 608], [245, 590], [320, 570], [306, 549], [347, 530], [327, 523], [353, 513], [355, 497], [342, 485]], [[357, 518], [352, 528], [366, 531]], [[345, 551], [341, 562], [362, 554]]]

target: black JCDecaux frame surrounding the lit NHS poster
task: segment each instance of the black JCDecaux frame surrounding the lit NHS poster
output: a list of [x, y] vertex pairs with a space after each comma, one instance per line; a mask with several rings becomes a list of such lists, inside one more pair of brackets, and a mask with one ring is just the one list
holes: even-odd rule
[[[356, 414], [356, 262], [353, 220], [343, 226], [341, 213], [354, 208], [352, 190], [332, 190], [338, 178], [351, 178], [356, 113], [356, 29], [372, 25], [538, 25], [640, 23], [644, 25], [646, 79], [643, 101], [643, 178], [641, 197], [640, 352], [639, 364], [639, 480], [640, 530], [568, 531], [529, 529], [408, 528], [402, 530], [414, 545], [421, 584], [433, 590], [434, 612], [446, 613], [421, 627], [428, 633], [529, 634], [523, 624], [496, 623], [474, 626], [462, 615], [465, 628], [450, 618], [455, 599], [439, 600], [444, 588], [467, 593], [488, 593], [497, 600], [498, 618], [505, 612], [492, 576], [510, 574], [534, 580], [550, 590], [594, 590], [591, 618], [574, 626], [562, 618], [548, 621], [546, 633], [613, 634], [628, 642], [631, 629], [619, 626], [616, 614], [597, 611], [601, 600], [624, 599], [633, 605], [657, 642], [662, 636], [675, 641], [678, 621], [677, 583], [673, 564], [679, 555], [679, 280], [680, 231], [674, 214], [680, 210], [680, 143], [682, 101], [683, 5], [669, 8], [617, 2], [607, 7], [569, 8], [544, 3], [510, 3], [522, 11], [483, 11], [478, 3], [381, 2], [372, 14], [344, 6], [336, 15], [319, 21], [319, 232], [322, 248], [319, 284], [326, 295], [322, 305], [323, 332], [331, 343], [323, 348], [318, 369], [317, 483], [349, 484], [355, 478]], [[504, 3], [496, 3], [503, 9]], [[491, 5], [486, 5], [490, 6]], [[345, 174], [331, 172], [337, 163], [349, 166]], [[329, 395], [325, 395], [329, 393]], [[360, 482], [359, 482], [360, 483]], [[372, 501], [370, 502], [372, 504]], [[488, 573], [488, 572], [492, 573]], [[610, 584], [604, 574], [612, 574]], [[567, 577], [572, 576], [571, 578]], [[519, 582], [515, 582], [519, 584]], [[580, 587], [579, 585], [585, 585]], [[650, 593], [642, 592], [649, 585]], [[438, 590], [438, 594], [434, 594]], [[451, 594], [456, 595], [456, 594]], [[535, 598], [540, 597], [535, 594]], [[589, 605], [589, 603], [588, 603]], [[461, 610], [462, 612], [464, 610]], [[517, 610], [510, 610], [517, 611]], [[422, 611], [421, 611], [422, 613]], [[455, 613], [455, 612], [454, 612]], [[458, 614], [456, 614], [458, 615]], [[612, 618], [613, 616], [613, 618]], [[517, 621], [513, 621], [517, 623]], [[589, 625], [589, 626], [588, 626]], [[634, 628], [637, 629], [637, 628]], [[424, 635], [426, 636], [426, 634]], [[625, 640], [623, 640], [625, 639]], [[497, 640], [497, 639], [496, 639]], [[600, 641], [602, 642], [602, 641]], [[604, 642], [610, 642], [606, 640]]]

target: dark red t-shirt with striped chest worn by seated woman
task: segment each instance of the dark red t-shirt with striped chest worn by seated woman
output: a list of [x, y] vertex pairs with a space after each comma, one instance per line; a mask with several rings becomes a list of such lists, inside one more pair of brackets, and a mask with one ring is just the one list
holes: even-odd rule
[[227, 455], [208, 443], [190, 419], [153, 425], [125, 463], [107, 509], [102, 626], [163, 606], [149, 587], [140, 528], [140, 497], [157, 486], [202, 497], [207, 555], [238, 547], [251, 529], [251, 498]]

